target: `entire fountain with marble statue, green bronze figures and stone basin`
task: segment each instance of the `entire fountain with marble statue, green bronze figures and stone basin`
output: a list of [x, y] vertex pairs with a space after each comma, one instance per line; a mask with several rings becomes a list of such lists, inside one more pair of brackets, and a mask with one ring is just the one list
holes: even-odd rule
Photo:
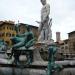
[[[41, 9], [41, 22], [39, 26], [38, 41], [30, 27], [27, 26], [27, 32], [12, 37], [13, 46], [11, 52], [7, 53], [10, 59], [1, 64], [0, 75], [74, 75], [75, 61], [56, 61], [55, 53], [57, 47], [52, 39], [52, 18], [49, 18], [50, 5], [46, 0], [41, 0], [43, 5]], [[18, 31], [18, 25], [16, 26]], [[47, 47], [48, 61], [44, 61], [40, 55], [40, 49]], [[21, 55], [23, 57], [21, 57]], [[12, 58], [13, 57], [13, 58]], [[2, 62], [3, 63], [3, 62]], [[6, 66], [6, 67], [5, 67]], [[68, 68], [68, 66], [73, 68]]]

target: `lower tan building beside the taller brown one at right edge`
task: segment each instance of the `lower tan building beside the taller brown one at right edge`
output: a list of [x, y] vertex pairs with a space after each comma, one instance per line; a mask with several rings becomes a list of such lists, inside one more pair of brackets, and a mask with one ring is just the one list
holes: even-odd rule
[[57, 45], [57, 59], [66, 59], [69, 57], [69, 45], [68, 45], [68, 39], [56, 42]]

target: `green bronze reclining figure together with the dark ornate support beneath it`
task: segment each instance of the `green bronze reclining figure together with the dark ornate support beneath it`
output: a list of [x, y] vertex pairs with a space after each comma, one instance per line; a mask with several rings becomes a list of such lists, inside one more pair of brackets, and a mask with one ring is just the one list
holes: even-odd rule
[[[30, 64], [32, 62], [32, 51], [30, 51], [29, 48], [35, 44], [35, 38], [30, 27], [26, 26], [26, 28], [27, 32], [25, 32], [24, 34], [18, 34], [16, 37], [11, 38], [13, 42], [11, 55], [14, 54], [15, 64], [19, 64], [19, 56], [24, 52], [28, 58], [27, 64]], [[19, 50], [21, 47], [24, 47], [24, 50]]]

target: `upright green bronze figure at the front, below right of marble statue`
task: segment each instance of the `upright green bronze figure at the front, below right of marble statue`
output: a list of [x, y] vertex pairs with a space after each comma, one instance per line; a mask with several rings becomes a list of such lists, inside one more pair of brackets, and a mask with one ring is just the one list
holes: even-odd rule
[[55, 54], [57, 52], [56, 44], [49, 45], [48, 53], [48, 66], [47, 66], [47, 75], [53, 75], [55, 71], [59, 72], [62, 69], [62, 66], [55, 63]]

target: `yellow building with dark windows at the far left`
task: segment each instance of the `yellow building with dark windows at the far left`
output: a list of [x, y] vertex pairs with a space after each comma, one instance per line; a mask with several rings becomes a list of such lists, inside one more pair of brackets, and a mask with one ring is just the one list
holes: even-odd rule
[[8, 45], [11, 45], [10, 37], [16, 36], [13, 21], [0, 21], [0, 39], [3, 39]]

